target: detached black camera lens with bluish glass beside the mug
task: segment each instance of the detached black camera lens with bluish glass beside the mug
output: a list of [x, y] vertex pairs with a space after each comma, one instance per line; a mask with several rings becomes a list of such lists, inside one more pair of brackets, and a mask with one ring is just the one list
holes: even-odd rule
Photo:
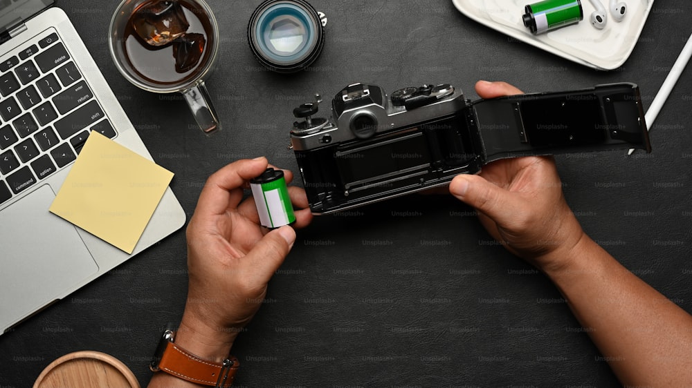
[[320, 14], [306, 1], [268, 0], [253, 12], [248, 41], [266, 68], [296, 72], [317, 59], [325, 34]]

